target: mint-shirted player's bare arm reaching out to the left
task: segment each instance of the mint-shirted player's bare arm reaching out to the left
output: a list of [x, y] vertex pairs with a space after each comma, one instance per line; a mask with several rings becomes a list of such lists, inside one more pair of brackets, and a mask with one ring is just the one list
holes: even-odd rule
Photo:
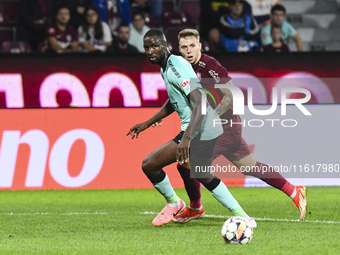
[[135, 137], [138, 138], [140, 132], [149, 128], [152, 124], [155, 124], [165, 117], [169, 116], [173, 112], [174, 108], [172, 107], [170, 100], [168, 99], [162, 106], [162, 108], [154, 116], [143, 123], [134, 125], [132, 128], [130, 128], [129, 132], [127, 132], [126, 135], [131, 135], [132, 139]]

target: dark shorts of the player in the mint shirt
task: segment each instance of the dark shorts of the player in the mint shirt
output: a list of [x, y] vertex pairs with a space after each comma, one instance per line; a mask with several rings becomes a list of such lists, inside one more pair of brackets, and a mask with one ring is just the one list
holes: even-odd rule
[[[179, 144], [183, 137], [184, 131], [172, 139], [175, 143]], [[201, 157], [201, 158], [212, 158], [214, 157], [214, 148], [217, 138], [207, 141], [200, 140], [201, 133], [195, 136], [190, 142], [190, 156]]]

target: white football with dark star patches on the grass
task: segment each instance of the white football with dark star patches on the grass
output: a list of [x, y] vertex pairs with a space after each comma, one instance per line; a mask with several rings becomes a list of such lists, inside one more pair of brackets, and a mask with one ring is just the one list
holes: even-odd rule
[[247, 244], [253, 238], [253, 228], [247, 219], [233, 216], [224, 222], [222, 237], [226, 243]]

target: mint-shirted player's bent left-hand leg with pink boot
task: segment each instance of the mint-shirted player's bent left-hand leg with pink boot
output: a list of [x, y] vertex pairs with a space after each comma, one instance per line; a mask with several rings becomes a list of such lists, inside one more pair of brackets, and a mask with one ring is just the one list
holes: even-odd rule
[[178, 198], [170, 184], [167, 174], [162, 169], [176, 162], [176, 151], [177, 144], [174, 141], [169, 141], [143, 160], [143, 172], [149, 178], [152, 185], [165, 198], [167, 203], [164, 209], [152, 221], [152, 224], [155, 226], [170, 222], [174, 215], [185, 208], [185, 203]]

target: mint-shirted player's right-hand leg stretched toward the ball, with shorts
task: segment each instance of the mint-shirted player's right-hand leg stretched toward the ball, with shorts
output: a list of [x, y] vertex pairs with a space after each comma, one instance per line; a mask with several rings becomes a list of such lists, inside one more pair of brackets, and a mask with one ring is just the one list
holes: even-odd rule
[[253, 227], [256, 222], [250, 218], [233, 195], [229, 192], [225, 184], [210, 171], [214, 159], [214, 147], [217, 139], [210, 141], [201, 141], [199, 136], [191, 141], [190, 147], [190, 167], [195, 178], [200, 181], [211, 194], [234, 216], [241, 216], [251, 221]]

